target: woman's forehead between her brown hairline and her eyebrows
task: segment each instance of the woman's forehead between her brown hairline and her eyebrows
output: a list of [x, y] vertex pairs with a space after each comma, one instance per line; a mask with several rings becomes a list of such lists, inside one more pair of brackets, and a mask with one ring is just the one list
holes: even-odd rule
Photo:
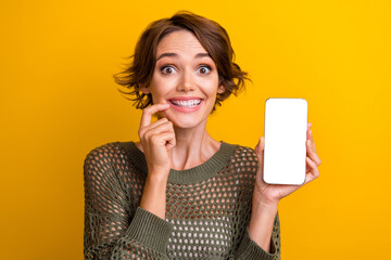
[[156, 56], [162, 53], [206, 53], [197, 37], [188, 30], [177, 30], [169, 32], [159, 42]]

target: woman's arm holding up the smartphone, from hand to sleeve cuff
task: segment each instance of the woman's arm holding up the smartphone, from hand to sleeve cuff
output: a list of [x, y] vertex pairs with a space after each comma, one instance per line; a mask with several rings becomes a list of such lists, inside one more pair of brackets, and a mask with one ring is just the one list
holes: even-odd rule
[[[243, 238], [251, 246], [250, 251], [256, 250], [258, 246], [258, 255], [241, 259], [279, 259], [280, 258], [280, 238], [279, 238], [279, 219], [278, 219], [278, 204], [279, 200], [289, 194], [293, 193], [306, 183], [319, 177], [317, 167], [320, 165], [320, 158], [316, 154], [316, 147], [312, 131], [310, 130], [311, 122], [307, 126], [307, 157], [306, 157], [306, 174], [305, 181], [302, 185], [279, 185], [267, 184], [263, 181], [263, 154], [264, 154], [264, 138], [261, 136], [258, 144], [255, 147], [257, 154], [258, 170], [255, 177], [254, 193], [252, 198], [252, 213], [250, 219], [249, 230]], [[272, 233], [272, 219], [276, 214], [276, 220], [273, 225]], [[272, 234], [272, 242], [270, 242]], [[251, 237], [251, 238], [250, 238]], [[251, 243], [253, 242], [253, 243]], [[244, 244], [244, 246], [243, 246]], [[241, 246], [245, 247], [245, 243]], [[247, 249], [248, 249], [247, 248]], [[249, 249], [248, 249], [249, 250]], [[244, 251], [244, 250], [243, 250]], [[268, 252], [269, 251], [269, 252]]]

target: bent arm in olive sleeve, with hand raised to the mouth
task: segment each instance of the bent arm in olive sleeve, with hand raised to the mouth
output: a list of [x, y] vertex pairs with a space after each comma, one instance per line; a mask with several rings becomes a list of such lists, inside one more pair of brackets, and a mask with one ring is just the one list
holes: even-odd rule
[[[140, 207], [128, 212], [121, 184], [121, 169], [114, 170], [108, 152], [91, 153], [85, 161], [86, 230], [85, 256], [94, 259], [168, 259], [166, 247], [173, 225], [166, 222], [166, 183], [171, 169], [168, 150], [175, 145], [173, 123], [151, 117], [168, 104], [155, 104], [142, 112], [139, 136], [148, 164], [148, 178]], [[168, 143], [168, 144], [167, 144]], [[115, 158], [112, 158], [115, 160]], [[130, 187], [131, 188], [131, 187]], [[130, 216], [133, 220], [127, 223]]]

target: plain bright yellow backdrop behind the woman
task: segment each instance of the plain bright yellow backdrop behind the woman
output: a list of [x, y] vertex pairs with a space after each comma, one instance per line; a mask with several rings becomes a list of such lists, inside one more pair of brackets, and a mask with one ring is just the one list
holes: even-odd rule
[[1, 259], [81, 259], [83, 162], [137, 141], [141, 110], [112, 75], [152, 21], [220, 23], [253, 80], [210, 117], [216, 140], [255, 147], [268, 98], [303, 98], [320, 177], [279, 206], [285, 260], [387, 259], [391, 242], [389, 1], [0, 3]]

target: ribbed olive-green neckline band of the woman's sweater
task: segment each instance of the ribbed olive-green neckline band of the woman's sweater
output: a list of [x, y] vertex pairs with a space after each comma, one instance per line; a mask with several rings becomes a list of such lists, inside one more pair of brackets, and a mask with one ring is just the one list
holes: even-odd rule
[[[148, 165], [146, 156], [143, 152], [137, 147], [136, 143], [130, 141], [119, 144], [127, 147], [130, 160], [147, 174]], [[168, 182], [175, 184], [192, 184], [212, 178], [227, 164], [236, 146], [236, 144], [229, 144], [222, 140], [218, 151], [201, 165], [185, 170], [175, 170], [172, 168], [168, 174]]]

